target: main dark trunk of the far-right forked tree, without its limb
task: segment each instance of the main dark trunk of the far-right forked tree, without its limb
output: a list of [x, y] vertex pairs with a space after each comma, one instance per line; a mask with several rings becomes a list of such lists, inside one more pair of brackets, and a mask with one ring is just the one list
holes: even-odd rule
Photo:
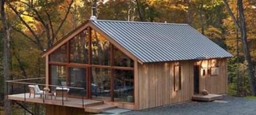
[[251, 88], [251, 93], [253, 96], [256, 96], [256, 90], [255, 90], [255, 76], [254, 76], [254, 70], [253, 70], [253, 64], [252, 64], [252, 59], [250, 55], [250, 50], [248, 47], [248, 42], [247, 42], [247, 29], [246, 29], [246, 22], [245, 22], [245, 17], [243, 14], [243, 0], [237, 0], [238, 4], [238, 10], [239, 10], [239, 19], [240, 19], [240, 31], [241, 31], [241, 38], [242, 38], [242, 43], [243, 43], [243, 51], [244, 51], [244, 57], [245, 60], [247, 61], [247, 67], [248, 67], [248, 77], [250, 81], [250, 88]]

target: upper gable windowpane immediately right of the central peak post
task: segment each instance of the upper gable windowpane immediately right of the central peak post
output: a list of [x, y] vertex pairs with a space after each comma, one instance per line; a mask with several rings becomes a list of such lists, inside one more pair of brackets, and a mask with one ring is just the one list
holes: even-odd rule
[[95, 30], [92, 30], [92, 64], [110, 66], [110, 43]]

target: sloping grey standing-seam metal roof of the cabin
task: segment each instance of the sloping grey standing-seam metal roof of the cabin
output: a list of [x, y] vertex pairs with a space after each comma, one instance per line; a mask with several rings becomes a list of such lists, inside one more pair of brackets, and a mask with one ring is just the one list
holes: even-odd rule
[[91, 22], [142, 62], [232, 57], [187, 24], [104, 20]]

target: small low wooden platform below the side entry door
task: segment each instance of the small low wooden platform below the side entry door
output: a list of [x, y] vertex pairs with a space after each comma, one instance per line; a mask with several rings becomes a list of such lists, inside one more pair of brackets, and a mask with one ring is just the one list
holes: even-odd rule
[[214, 100], [222, 100], [223, 95], [220, 94], [196, 94], [192, 96], [192, 100], [194, 101], [214, 101]]

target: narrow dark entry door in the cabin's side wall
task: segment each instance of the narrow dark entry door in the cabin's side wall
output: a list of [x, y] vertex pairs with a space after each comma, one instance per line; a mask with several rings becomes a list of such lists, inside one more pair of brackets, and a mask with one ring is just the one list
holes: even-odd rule
[[194, 66], [194, 94], [199, 94], [199, 66]]

